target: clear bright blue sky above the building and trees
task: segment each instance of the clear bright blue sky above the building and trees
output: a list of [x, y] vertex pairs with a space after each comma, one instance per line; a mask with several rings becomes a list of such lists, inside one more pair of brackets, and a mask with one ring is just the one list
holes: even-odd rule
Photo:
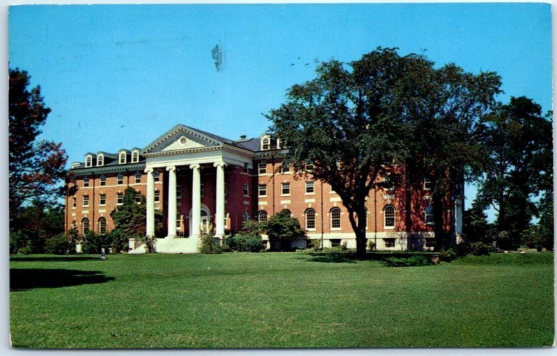
[[269, 126], [262, 114], [318, 62], [356, 60], [377, 46], [498, 72], [501, 101], [526, 95], [548, 111], [550, 11], [547, 3], [12, 6], [8, 56], [40, 84], [52, 108], [42, 137], [62, 142], [69, 164], [86, 152], [144, 147], [177, 123], [259, 136]]

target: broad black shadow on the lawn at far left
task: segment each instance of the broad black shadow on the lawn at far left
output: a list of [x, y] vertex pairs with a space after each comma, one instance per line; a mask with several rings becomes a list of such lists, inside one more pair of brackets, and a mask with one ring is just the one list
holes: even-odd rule
[[107, 277], [97, 270], [10, 269], [10, 291], [79, 286], [81, 284], [106, 283], [112, 280], [114, 280], [114, 277]]

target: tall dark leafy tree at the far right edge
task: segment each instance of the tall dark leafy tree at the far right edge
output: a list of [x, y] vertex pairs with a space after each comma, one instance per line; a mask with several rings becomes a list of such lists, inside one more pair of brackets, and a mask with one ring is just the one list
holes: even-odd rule
[[538, 215], [533, 197], [552, 197], [551, 121], [532, 99], [511, 97], [485, 115], [483, 124], [489, 161], [480, 195], [497, 211], [497, 229], [508, 232], [516, 247]]

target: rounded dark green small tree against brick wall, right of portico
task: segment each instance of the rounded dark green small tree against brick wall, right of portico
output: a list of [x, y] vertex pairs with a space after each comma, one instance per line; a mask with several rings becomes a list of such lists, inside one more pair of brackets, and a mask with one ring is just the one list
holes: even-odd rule
[[306, 233], [300, 228], [298, 219], [292, 218], [290, 212], [281, 211], [265, 223], [271, 250], [290, 250], [290, 241], [304, 238]]

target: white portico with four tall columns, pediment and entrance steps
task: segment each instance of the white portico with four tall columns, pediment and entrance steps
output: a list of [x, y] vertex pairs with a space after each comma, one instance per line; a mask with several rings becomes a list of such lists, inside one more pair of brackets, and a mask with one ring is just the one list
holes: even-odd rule
[[[204, 201], [207, 202], [208, 198], [212, 202], [207, 204], [212, 205], [214, 202], [214, 236], [223, 238], [226, 227], [226, 167], [251, 165], [253, 162], [251, 152], [207, 136], [203, 132], [177, 125], [148, 145], [141, 154], [146, 158], [146, 236], [155, 236], [154, 172], [158, 170], [165, 172], [168, 176], [168, 189], [164, 194], [166, 196], [162, 197], [166, 198], [167, 235], [165, 238], [157, 239], [157, 252], [197, 252], [197, 243], [202, 228], [207, 226], [205, 223], [203, 227], [201, 220], [202, 172], [205, 172], [203, 173], [204, 179], [210, 177], [214, 179], [210, 184], [214, 195], [205, 197]], [[178, 238], [176, 226], [176, 217], [180, 209], [177, 199], [178, 172], [181, 174], [180, 177], [187, 177], [188, 181], [191, 175], [191, 194], [189, 195], [191, 200], [187, 202], [187, 206], [191, 207], [191, 215], [182, 211], [189, 218], [188, 238]], [[182, 207], [182, 209], [185, 208]], [[182, 245], [182, 248], [178, 248], [178, 245]]]

